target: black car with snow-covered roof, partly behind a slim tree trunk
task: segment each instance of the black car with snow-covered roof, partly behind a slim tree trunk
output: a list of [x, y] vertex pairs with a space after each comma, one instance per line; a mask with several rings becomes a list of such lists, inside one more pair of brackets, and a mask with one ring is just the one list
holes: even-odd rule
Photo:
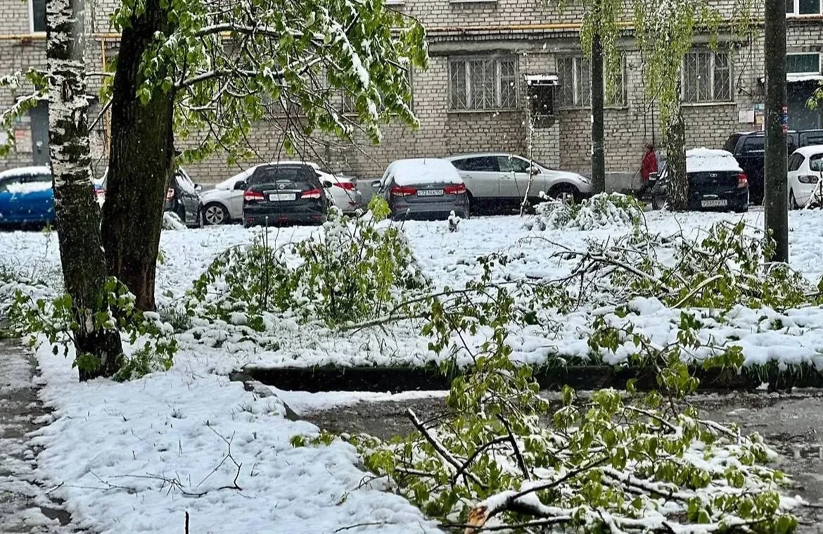
[[[689, 179], [689, 209], [749, 209], [749, 181], [731, 152], [695, 148], [686, 151], [686, 176]], [[652, 189], [652, 207], [662, 209], [668, 197], [668, 165], [664, 164]]]

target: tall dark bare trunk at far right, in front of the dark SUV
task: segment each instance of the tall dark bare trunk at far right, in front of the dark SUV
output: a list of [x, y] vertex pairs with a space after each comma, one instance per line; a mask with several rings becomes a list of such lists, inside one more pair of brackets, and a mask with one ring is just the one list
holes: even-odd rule
[[774, 262], [788, 262], [786, 134], [786, 9], [779, 0], [765, 2], [765, 164], [763, 199], [766, 233], [774, 239]]

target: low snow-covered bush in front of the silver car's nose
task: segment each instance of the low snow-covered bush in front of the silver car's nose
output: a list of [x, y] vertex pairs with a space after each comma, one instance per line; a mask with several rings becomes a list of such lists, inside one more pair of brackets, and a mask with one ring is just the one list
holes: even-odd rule
[[593, 230], [605, 226], [639, 225], [643, 207], [635, 197], [621, 193], [599, 193], [583, 202], [570, 203], [546, 197], [537, 204], [536, 215], [526, 221], [529, 230], [574, 228]]

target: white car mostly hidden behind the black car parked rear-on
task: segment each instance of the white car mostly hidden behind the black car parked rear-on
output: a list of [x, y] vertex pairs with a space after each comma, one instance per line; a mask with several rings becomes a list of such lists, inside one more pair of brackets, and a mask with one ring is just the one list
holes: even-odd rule
[[[321, 181], [329, 181], [332, 183], [332, 187], [328, 188], [329, 196], [332, 198], [334, 205], [343, 213], [354, 213], [362, 206], [363, 196], [357, 189], [355, 179], [346, 176], [335, 176], [327, 170], [322, 169], [320, 165], [316, 163], [310, 161], [277, 161], [260, 165], [295, 165], [304, 163], [305, 165], [314, 167]], [[218, 183], [214, 189], [202, 193], [204, 218], [207, 225], [221, 225], [243, 220], [243, 192], [245, 190], [245, 181], [252, 175], [254, 169], [257, 169], [260, 165], [254, 165], [249, 169], [245, 169], [230, 179]]]

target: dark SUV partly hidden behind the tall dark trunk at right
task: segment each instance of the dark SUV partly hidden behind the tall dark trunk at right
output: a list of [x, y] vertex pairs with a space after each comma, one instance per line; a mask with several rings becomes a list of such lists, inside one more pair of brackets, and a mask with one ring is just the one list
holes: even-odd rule
[[[801, 146], [823, 144], [823, 130], [788, 132], [788, 155]], [[763, 162], [765, 154], [764, 132], [732, 133], [723, 146], [732, 152], [737, 163], [749, 179], [749, 193], [753, 204], [763, 203]]]

